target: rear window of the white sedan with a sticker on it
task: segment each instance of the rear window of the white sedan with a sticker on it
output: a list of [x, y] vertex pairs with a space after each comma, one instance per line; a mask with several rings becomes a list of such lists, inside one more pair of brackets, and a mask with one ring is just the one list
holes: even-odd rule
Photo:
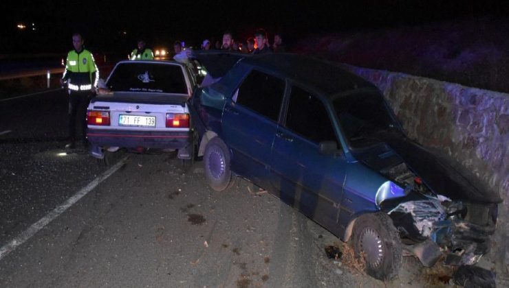
[[118, 64], [106, 83], [110, 91], [187, 94], [182, 67], [171, 64]]

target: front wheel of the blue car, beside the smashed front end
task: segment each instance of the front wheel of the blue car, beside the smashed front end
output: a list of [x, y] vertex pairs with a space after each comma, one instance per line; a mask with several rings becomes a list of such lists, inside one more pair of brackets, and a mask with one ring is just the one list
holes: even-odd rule
[[398, 276], [401, 241], [389, 215], [373, 213], [356, 219], [352, 244], [356, 256], [364, 258], [367, 274], [379, 280]]

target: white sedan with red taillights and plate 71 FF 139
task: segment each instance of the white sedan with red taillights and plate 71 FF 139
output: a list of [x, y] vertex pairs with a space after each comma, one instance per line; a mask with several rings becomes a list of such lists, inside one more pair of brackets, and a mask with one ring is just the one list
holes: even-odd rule
[[122, 61], [116, 64], [87, 109], [91, 155], [127, 148], [136, 152], [174, 151], [193, 158], [193, 125], [187, 100], [196, 86], [188, 64]]

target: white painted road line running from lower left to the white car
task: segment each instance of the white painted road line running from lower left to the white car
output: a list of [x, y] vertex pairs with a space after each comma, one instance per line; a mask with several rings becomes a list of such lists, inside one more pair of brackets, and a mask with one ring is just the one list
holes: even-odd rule
[[9, 241], [6, 245], [3, 245], [2, 248], [0, 248], [0, 260], [3, 259], [3, 257], [7, 256], [10, 252], [14, 251], [19, 245], [25, 243], [28, 239], [30, 239], [32, 236], [35, 235], [36, 232], [39, 232], [42, 228], [44, 228], [47, 224], [49, 224], [51, 221], [53, 221], [58, 215], [61, 215], [64, 211], [67, 210], [70, 206], [72, 206], [74, 203], [78, 202], [78, 200], [81, 199], [81, 197], [87, 195], [91, 190], [96, 188], [96, 186], [106, 180], [111, 174], [115, 173], [124, 163], [126, 163], [127, 158], [129, 156], [126, 156], [122, 158], [122, 160], [118, 161], [116, 165], [105, 171], [105, 173], [102, 173], [100, 176], [98, 176], [96, 179], [92, 180], [87, 186], [83, 187], [78, 193], [74, 194], [72, 197], [70, 197], [67, 201], [65, 201], [61, 206], [58, 206], [54, 208], [53, 211], [48, 213], [45, 217], [41, 218], [36, 223], [32, 224], [27, 230], [24, 232], [21, 232], [16, 238]]

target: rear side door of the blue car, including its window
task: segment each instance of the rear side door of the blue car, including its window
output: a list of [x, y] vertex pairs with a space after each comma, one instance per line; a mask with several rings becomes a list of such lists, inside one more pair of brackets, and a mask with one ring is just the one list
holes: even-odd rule
[[270, 150], [284, 93], [283, 79], [253, 69], [224, 106], [221, 125], [232, 149], [232, 171], [261, 187], [269, 183]]

